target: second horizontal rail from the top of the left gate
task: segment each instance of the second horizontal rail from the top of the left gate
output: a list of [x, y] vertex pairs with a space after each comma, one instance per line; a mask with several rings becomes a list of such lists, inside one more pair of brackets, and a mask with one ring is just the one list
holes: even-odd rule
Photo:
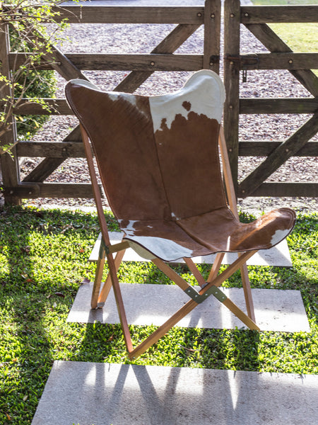
[[[106, 55], [103, 53], [66, 53], [65, 57], [78, 69], [102, 71], [197, 71], [202, 69], [203, 55]], [[11, 69], [23, 64], [25, 54], [9, 55]], [[38, 69], [53, 69], [43, 60]]]

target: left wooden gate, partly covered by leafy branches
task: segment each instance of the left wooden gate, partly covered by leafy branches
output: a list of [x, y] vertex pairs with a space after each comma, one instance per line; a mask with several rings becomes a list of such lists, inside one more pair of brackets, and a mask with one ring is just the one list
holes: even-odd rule
[[[56, 47], [43, 56], [42, 69], [55, 69], [66, 81], [87, 79], [82, 70], [131, 70], [115, 87], [115, 91], [132, 93], [155, 71], [196, 71], [213, 69], [218, 72], [220, 62], [220, 0], [206, 0], [204, 6], [65, 6], [60, 18], [69, 23], [160, 23], [177, 24], [172, 32], [149, 55], [64, 55]], [[173, 54], [200, 26], [204, 26], [204, 51], [201, 55]], [[13, 64], [19, 66], [23, 55], [10, 52], [8, 31], [0, 33], [1, 73], [8, 75]], [[47, 65], [49, 63], [49, 66]], [[52, 105], [49, 113], [71, 115], [65, 99], [46, 99]], [[25, 99], [14, 111], [16, 115], [47, 114], [37, 103]], [[7, 142], [15, 142], [13, 129]], [[62, 142], [19, 142], [13, 149], [13, 160], [1, 156], [6, 202], [19, 203], [22, 198], [93, 198], [90, 183], [44, 183], [66, 158], [84, 157], [79, 128], [74, 128]], [[43, 157], [28, 176], [20, 181], [18, 157]]]

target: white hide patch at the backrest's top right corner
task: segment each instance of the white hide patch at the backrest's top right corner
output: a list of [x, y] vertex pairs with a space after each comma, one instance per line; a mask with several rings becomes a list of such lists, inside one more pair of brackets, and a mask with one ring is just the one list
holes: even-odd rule
[[[224, 101], [225, 89], [218, 74], [202, 69], [193, 74], [182, 89], [149, 98], [153, 131], [160, 130], [163, 120], [170, 129], [176, 115], [187, 118], [189, 112], [206, 115], [220, 123]], [[182, 106], [184, 102], [191, 104], [189, 111]]]

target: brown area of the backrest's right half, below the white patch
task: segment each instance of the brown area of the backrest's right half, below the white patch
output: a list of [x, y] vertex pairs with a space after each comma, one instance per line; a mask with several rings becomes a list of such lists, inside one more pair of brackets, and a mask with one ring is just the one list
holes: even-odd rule
[[[191, 106], [188, 106], [189, 108]], [[179, 220], [226, 206], [218, 157], [220, 125], [206, 115], [175, 116], [155, 132], [172, 217]]]

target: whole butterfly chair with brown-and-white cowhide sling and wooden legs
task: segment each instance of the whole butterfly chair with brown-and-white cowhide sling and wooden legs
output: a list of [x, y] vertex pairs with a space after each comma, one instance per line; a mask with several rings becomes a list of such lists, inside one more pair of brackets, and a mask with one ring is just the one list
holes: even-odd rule
[[[220, 77], [202, 70], [193, 74], [182, 89], [163, 96], [104, 92], [88, 81], [76, 79], [66, 85], [66, 98], [81, 123], [102, 233], [91, 306], [102, 307], [113, 288], [129, 358], [140, 356], [209, 295], [220, 300], [249, 329], [259, 329], [246, 261], [257, 250], [281, 242], [293, 229], [295, 212], [281, 208], [248, 224], [238, 220], [220, 131], [225, 100]], [[227, 193], [220, 171], [219, 134]], [[110, 208], [124, 232], [118, 244], [110, 244], [91, 146]], [[189, 301], [136, 348], [131, 344], [117, 278], [124, 250], [129, 247], [153, 261], [189, 295]], [[240, 254], [218, 274], [225, 252]], [[205, 280], [192, 258], [213, 253], [218, 254]], [[105, 256], [109, 275], [100, 290]], [[201, 289], [189, 285], [167, 264], [180, 259], [187, 263]], [[218, 288], [238, 269], [248, 314]]]

